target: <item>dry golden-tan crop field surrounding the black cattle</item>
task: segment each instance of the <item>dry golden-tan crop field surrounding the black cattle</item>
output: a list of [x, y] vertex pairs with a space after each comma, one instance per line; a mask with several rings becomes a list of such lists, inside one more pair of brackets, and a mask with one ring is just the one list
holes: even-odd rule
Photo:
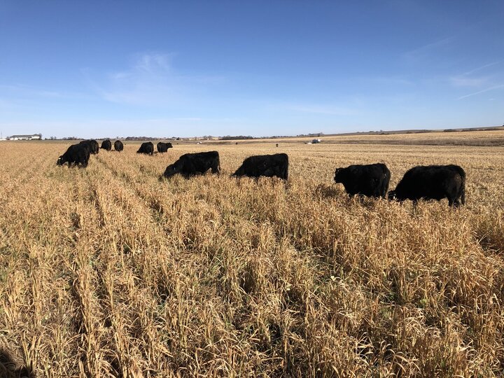
[[[66, 146], [0, 144], [0, 375], [502, 376], [504, 148], [223, 145], [221, 176], [160, 182], [212, 148]], [[288, 183], [229, 177], [279, 151]], [[349, 199], [365, 162], [459, 164], [468, 204]]]

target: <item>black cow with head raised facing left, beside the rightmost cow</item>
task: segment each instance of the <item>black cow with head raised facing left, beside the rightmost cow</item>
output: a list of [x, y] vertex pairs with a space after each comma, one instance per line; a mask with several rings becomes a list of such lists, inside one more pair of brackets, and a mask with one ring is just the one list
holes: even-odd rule
[[350, 165], [346, 168], [337, 168], [334, 180], [335, 183], [342, 183], [349, 195], [385, 198], [390, 171], [381, 163]]

